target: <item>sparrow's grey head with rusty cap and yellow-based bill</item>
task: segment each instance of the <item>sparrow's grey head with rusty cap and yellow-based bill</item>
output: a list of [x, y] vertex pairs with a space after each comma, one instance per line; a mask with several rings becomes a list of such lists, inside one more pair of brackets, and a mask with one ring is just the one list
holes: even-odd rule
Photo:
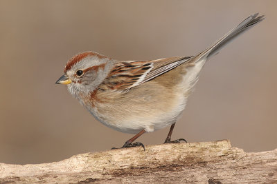
[[96, 52], [82, 52], [69, 59], [64, 74], [56, 84], [65, 84], [69, 92], [79, 98], [80, 93], [93, 92], [105, 80], [114, 60]]

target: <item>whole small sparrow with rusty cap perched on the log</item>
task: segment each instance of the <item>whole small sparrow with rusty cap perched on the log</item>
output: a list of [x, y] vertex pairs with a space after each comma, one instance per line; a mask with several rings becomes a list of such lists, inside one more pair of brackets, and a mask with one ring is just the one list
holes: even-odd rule
[[[242, 21], [222, 39], [195, 57], [171, 57], [152, 61], [118, 61], [96, 52], [82, 52], [71, 58], [57, 84], [69, 92], [101, 123], [129, 134], [141, 134], [171, 125], [164, 143], [170, 141], [175, 123], [198, 81], [205, 62], [242, 32], [262, 21], [258, 13]], [[143, 146], [144, 148], [144, 146]]]

